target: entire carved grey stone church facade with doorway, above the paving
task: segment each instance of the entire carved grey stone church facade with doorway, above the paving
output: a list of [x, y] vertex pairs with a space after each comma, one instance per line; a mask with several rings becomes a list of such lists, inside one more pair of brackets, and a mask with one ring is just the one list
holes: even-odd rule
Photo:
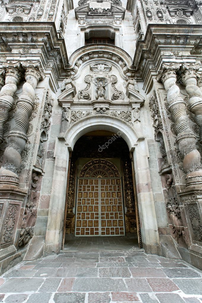
[[202, 2], [0, 4], [1, 273], [127, 235], [202, 269]]

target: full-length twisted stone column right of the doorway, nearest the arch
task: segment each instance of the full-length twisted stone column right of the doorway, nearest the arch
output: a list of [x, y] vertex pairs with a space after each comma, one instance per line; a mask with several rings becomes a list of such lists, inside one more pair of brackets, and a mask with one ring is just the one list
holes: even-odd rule
[[167, 90], [168, 109], [175, 125], [176, 142], [184, 158], [183, 168], [187, 185], [198, 185], [202, 183], [200, 153], [196, 149], [196, 137], [190, 128], [190, 119], [186, 114], [186, 102], [180, 97], [180, 89], [176, 85], [176, 72], [179, 68], [178, 64], [163, 64], [157, 80], [161, 80]]

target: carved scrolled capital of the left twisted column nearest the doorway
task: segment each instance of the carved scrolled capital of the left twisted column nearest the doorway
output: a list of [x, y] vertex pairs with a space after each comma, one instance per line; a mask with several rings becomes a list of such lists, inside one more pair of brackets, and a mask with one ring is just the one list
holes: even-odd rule
[[[39, 80], [45, 78], [43, 69], [41, 68], [41, 63], [39, 61], [24, 61], [22, 63], [22, 67], [25, 69], [26, 81], [33, 87], [35, 87], [35, 83], [37, 84]], [[33, 82], [34, 79], [35, 81]]]

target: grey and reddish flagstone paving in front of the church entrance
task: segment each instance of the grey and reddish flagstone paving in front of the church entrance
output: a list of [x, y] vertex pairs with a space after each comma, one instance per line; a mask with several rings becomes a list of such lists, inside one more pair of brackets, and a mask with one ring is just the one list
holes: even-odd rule
[[107, 252], [72, 245], [7, 271], [0, 277], [0, 302], [202, 302], [202, 272], [181, 260], [147, 255], [131, 245]]

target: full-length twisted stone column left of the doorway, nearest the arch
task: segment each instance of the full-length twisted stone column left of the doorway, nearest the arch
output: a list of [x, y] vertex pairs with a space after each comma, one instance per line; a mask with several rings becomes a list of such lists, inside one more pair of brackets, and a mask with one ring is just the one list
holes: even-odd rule
[[9, 145], [5, 149], [5, 164], [0, 168], [0, 183], [18, 185], [18, 171], [22, 164], [21, 152], [27, 142], [29, 118], [34, 108], [35, 88], [41, 78], [40, 62], [23, 62], [25, 80], [22, 95], [17, 102], [13, 126], [8, 134]]

